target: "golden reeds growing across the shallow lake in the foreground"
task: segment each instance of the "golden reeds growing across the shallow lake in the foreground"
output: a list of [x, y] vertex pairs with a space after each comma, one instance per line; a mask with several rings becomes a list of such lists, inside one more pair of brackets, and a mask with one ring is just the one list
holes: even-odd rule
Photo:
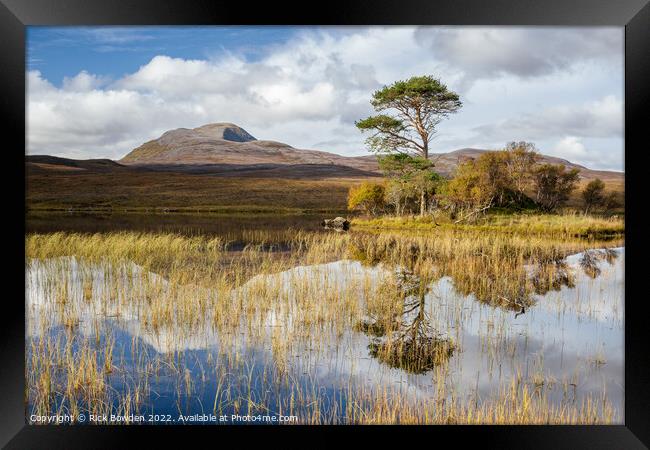
[[[542, 363], [489, 395], [458, 392], [444, 380], [463, 342], [442, 330], [457, 330], [466, 313], [431, 317], [424, 301], [434, 295], [432, 283], [448, 277], [459, 295], [518, 311], [536, 295], [570, 285], [566, 255], [620, 241], [456, 228], [281, 234], [251, 232], [237, 246], [200, 235], [28, 235], [28, 295], [38, 292], [38, 304], [36, 297], [28, 303], [30, 410], [142, 413], [164, 385], [179, 413], [284, 414], [301, 423], [620, 419], [604, 391], [558, 401], [576, 380], [551, 382]], [[615, 258], [602, 255], [599, 261]], [[495, 317], [481, 336], [485, 352], [495, 361], [513, 359], [518, 350]], [[115, 329], [133, 336], [130, 345], [116, 340]], [[350, 353], [359, 340], [368, 344], [366, 357], [431, 374], [434, 382], [424, 395], [408, 386], [369, 386]], [[268, 353], [257, 357], [253, 349]], [[318, 372], [341, 361], [350, 375], [324, 386]]]

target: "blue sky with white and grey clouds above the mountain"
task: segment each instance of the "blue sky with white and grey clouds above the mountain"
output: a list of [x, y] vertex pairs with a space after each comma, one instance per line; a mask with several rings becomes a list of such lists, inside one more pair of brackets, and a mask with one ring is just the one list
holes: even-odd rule
[[623, 28], [28, 27], [27, 153], [119, 159], [175, 128], [368, 154], [372, 93], [417, 75], [456, 91], [433, 152], [536, 144], [623, 170]]

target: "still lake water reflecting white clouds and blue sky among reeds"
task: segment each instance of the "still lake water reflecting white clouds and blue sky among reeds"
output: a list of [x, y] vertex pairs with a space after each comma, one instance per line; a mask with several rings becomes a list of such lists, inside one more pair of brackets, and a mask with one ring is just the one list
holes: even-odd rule
[[[367, 294], [368, 286], [387, 279], [407, 292], [409, 283], [422, 283], [402, 267], [338, 260], [259, 273], [230, 292], [185, 287], [196, 311], [175, 309], [154, 323], [147, 298], [176, 289], [164, 277], [133, 263], [32, 260], [26, 265], [27, 358], [45, 339], [60, 346], [51, 355], [70, 346], [71, 354], [86, 349], [100, 363], [108, 358], [109, 407], [133, 404], [131, 413], [155, 414], [162, 423], [186, 423], [196, 414], [213, 414], [217, 423], [224, 423], [221, 416], [239, 423], [232, 419], [239, 414], [346, 423], [352, 392], [415, 405], [459, 398], [480, 404], [519, 382], [557, 408], [605, 394], [620, 423], [624, 247], [570, 255], [564, 263], [571, 282], [521, 309], [463, 295], [448, 276], [407, 294], [402, 338], [447, 343], [439, 360], [413, 367], [377, 351], [386, 333], [373, 324]], [[306, 291], [328, 294], [319, 306], [306, 306]], [[350, 323], [343, 310], [326, 311], [332, 295], [353, 298], [345, 308], [358, 309], [363, 320]], [[256, 304], [256, 296], [278, 301]], [[215, 306], [224, 300], [245, 302], [246, 312], [224, 313]], [[66, 410], [68, 402], [60, 396], [51, 408]]]

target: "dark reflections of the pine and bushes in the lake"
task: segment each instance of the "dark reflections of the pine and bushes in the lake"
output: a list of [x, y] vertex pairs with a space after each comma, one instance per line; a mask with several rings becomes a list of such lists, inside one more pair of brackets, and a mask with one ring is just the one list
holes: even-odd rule
[[[417, 252], [407, 261], [407, 267], [417, 267]], [[365, 264], [375, 265], [381, 260], [374, 255], [359, 252]], [[356, 256], [356, 255], [355, 255]], [[612, 264], [618, 257], [613, 249], [586, 250], [579, 261], [584, 273], [596, 278], [601, 273], [600, 262]], [[510, 261], [510, 265], [489, 264], [485, 260], [470, 260], [465, 264], [447, 264], [438, 276], [447, 275], [456, 292], [472, 295], [482, 303], [515, 312], [515, 318], [534, 306], [536, 295], [559, 291], [562, 287], [575, 287], [574, 269], [563, 256], [550, 260], [537, 260], [527, 268], [524, 263]], [[410, 263], [410, 264], [409, 264]], [[428, 271], [418, 270], [418, 273]], [[431, 326], [426, 310], [426, 295], [431, 276], [421, 276], [412, 269], [396, 270], [396, 282], [386, 293], [380, 307], [368, 305], [367, 318], [356, 325], [356, 330], [371, 336], [370, 355], [391, 367], [411, 373], [426, 373], [445, 363], [456, 347]]]

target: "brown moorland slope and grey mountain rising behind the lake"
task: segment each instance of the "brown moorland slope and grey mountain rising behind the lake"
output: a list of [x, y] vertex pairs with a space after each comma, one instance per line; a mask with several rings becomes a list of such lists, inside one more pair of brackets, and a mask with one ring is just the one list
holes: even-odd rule
[[[487, 150], [431, 155], [452, 176], [459, 163]], [[580, 169], [582, 189], [596, 177], [624, 191], [622, 172], [596, 171], [551, 156], [542, 162]], [[375, 155], [346, 157], [258, 140], [230, 123], [180, 128], [146, 142], [119, 161], [27, 155], [26, 200], [41, 210], [345, 211], [347, 191], [381, 177]], [[580, 205], [576, 193], [569, 204]]]

